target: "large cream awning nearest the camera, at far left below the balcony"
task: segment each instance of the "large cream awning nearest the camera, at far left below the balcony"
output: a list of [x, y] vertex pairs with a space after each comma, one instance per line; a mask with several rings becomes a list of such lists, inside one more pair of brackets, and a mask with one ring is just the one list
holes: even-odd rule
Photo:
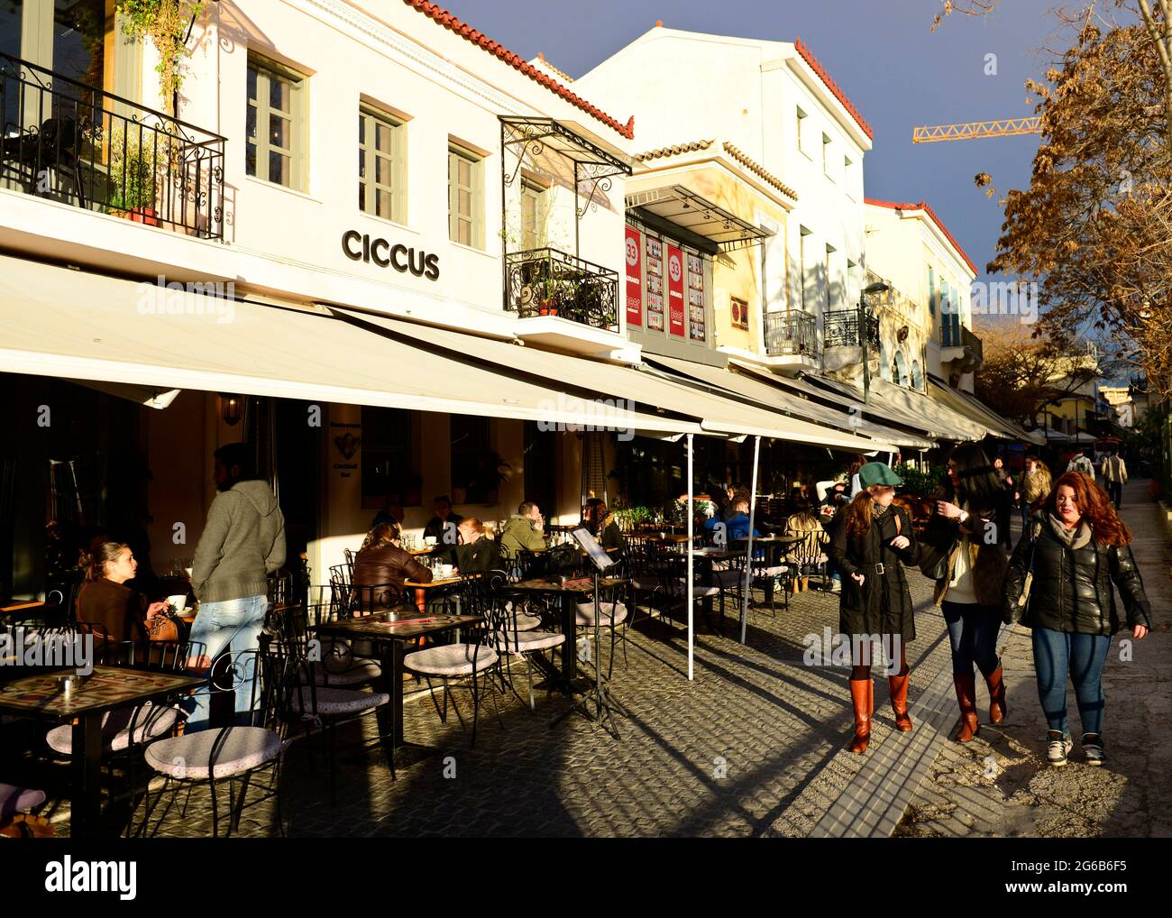
[[326, 312], [161, 291], [2, 256], [0, 372], [587, 429], [703, 433], [691, 419], [615, 410], [566, 387], [500, 375]]

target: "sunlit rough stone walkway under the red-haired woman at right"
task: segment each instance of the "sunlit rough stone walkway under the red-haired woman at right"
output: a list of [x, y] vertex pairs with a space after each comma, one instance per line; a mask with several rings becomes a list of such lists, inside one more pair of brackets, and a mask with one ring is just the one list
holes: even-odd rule
[[[1147, 482], [1129, 484], [1123, 518], [1154, 612], [1156, 631], [1143, 641], [1120, 631], [1103, 675], [1108, 762], [1084, 763], [1074, 689], [1068, 686], [1075, 737], [1064, 768], [1045, 763], [1045, 720], [1037, 700], [1030, 633], [1010, 632], [1002, 651], [1009, 715], [987, 722], [979, 689], [981, 733], [970, 743], [947, 742], [920, 784], [900, 836], [1168, 836], [1172, 835], [1172, 696], [1168, 637], [1172, 548], [1166, 524], [1147, 498]], [[1130, 652], [1131, 659], [1127, 658]]]

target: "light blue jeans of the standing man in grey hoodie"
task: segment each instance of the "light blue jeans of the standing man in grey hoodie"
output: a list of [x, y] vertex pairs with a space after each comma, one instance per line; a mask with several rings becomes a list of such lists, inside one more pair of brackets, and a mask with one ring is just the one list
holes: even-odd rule
[[[265, 624], [268, 611], [268, 597], [247, 596], [241, 599], [226, 599], [223, 603], [200, 603], [199, 614], [191, 626], [191, 642], [202, 644], [203, 648], [191, 648], [191, 653], [202, 653], [209, 661], [214, 661], [224, 651], [239, 653], [260, 647], [260, 628]], [[220, 671], [217, 669], [217, 673]], [[236, 687], [236, 710], [251, 710], [253, 703], [254, 669], [252, 661], [246, 668], [233, 675], [232, 681], [239, 681]], [[189, 712], [186, 733], [207, 729], [211, 707], [211, 688], [202, 686], [196, 689], [184, 707]]]

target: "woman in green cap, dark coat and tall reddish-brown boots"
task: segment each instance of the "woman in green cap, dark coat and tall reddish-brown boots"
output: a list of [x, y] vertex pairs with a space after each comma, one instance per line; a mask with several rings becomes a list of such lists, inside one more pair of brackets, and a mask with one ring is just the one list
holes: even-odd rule
[[851, 752], [863, 754], [871, 740], [874, 684], [871, 681], [872, 641], [884, 647], [887, 691], [895, 712], [895, 729], [908, 732], [907, 642], [915, 640], [912, 594], [904, 574], [905, 564], [918, 564], [920, 544], [912, 518], [892, 505], [899, 476], [881, 462], [859, 469], [863, 490], [839, 510], [832, 526], [830, 557], [843, 572], [838, 630], [851, 640], [851, 705], [854, 739]]

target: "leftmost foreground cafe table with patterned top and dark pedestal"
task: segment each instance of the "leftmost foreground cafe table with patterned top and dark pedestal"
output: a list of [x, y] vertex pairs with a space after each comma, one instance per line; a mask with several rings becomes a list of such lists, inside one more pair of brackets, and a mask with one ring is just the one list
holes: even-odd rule
[[93, 674], [68, 694], [57, 679], [75, 669], [42, 671], [0, 684], [0, 712], [55, 723], [73, 722], [73, 795], [70, 835], [97, 835], [102, 816], [98, 776], [102, 768], [102, 715], [204, 685], [206, 676], [95, 666]]

